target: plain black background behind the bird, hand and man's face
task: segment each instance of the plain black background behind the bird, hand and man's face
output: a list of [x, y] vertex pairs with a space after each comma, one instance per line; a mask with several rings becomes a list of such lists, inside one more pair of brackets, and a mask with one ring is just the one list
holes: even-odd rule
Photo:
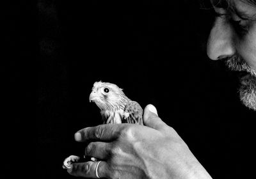
[[154, 104], [212, 178], [242, 175], [243, 128], [255, 113], [239, 102], [235, 75], [207, 58], [212, 16], [197, 1], [140, 3], [6, 6], [6, 176], [74, 178], [62, 162], [83, 153], [77, 130], [102, 123], [88, 100], [100, 80]]

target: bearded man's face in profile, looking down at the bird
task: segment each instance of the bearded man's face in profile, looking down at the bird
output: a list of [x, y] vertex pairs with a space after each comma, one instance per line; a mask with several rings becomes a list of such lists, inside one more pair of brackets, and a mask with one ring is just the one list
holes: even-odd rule
[[244, 105], [256, 110], [256, 1], [211, 0], [216, 20], [207, 43], [213, 60], [225, 59], [231, 70], [247, 72], [239, 89]]

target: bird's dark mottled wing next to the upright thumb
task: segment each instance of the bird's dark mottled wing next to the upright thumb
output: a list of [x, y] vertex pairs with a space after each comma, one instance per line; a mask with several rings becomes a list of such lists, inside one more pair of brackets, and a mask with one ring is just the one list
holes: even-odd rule
[[124, 107], [122, 123], [134, 123], [143, 125], [143, 109], [135, 101], [128, 102]]

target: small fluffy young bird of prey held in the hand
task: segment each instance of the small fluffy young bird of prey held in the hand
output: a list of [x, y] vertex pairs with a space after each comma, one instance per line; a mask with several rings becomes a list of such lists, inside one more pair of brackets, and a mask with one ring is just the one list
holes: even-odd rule
[[[110, 82], [95, 82], [92, 93], [89, 97], [90, 102], [100, 109], [103, 123], [133, 123], [143, 125], [143, 109], [138, 102], [130, 100], [125, 96], [123, 89]], [[68, 169], [71, 164], [78, 162], [81, 158], [70, 155], [63, 162], [63, 168]], [[92, 161], [97, 161], [92, 157]]]

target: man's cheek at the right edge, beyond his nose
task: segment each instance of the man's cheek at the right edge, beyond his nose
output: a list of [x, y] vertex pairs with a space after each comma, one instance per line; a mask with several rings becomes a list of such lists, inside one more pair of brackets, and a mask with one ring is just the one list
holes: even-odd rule
[[256, 70], [256, 26], [243, 40], [238, 40], [236, 46], [238, 54]]

